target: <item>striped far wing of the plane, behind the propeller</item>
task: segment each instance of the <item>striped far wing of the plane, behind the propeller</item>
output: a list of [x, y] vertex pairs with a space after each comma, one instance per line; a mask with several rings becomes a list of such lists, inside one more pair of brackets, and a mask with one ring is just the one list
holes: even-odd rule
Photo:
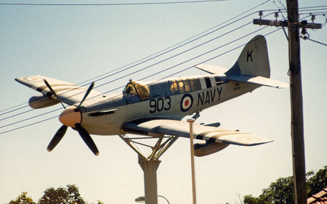
[[[87, 91], [87, 88], [79, 86], [76, 84], [71, 84], [69, 82], [64, 82], [61, 80], [55, 80], [50, 77], [44, 77], [41, 75], [29, 76], [29, 77], [18, 77], [15, 80], [25, 86], [30, 87], [48, 97], [56, 99], [51, 91], [48, 89], [44, 83], [44, 79], [51, 85], [53, 91], [58, 95], [60, 100], [65, 104], [73, 105], [80, 102]], [[102, 93], [92, 90], [87, 96], [87, 99], [95, 98], [97, 96], [102, 96]], [[83, 104], [88, 104], [87, 100]]]

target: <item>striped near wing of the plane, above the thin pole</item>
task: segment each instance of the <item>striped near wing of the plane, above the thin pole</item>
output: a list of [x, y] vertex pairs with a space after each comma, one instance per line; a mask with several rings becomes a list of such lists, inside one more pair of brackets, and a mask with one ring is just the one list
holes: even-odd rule
[[[123, 124], [126, 133], [140, 133], [156, 136], [160, 134], [190, 138], [190, 124], [179, 120], [140, 119]], [[220, 127], [194, 124], [193, 137], [198, 140], [231, 145], [254, 146], [272, 142], [267, 138], [251, 133], [221, 129]]]

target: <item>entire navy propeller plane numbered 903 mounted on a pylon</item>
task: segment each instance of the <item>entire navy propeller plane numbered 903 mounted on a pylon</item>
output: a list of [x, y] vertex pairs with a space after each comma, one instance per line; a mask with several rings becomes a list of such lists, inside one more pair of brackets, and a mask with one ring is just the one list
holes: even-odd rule
[[[18, 77], [15, 80], [41, 93], [30, 98], [29, 105], [33, 109], [58, 103], [69, 105], [66, 107], [62, 104], [64, 111], [59, 116], [62, 127], [53, 136], [48, 151], [52, 151], [67, 128], [72, 127], [96, 156], [99, 151], [90, 134], [113, 136], [132, 133], [151, 137], [168, 135], [190, 138], [189, 123], [181, 121], [186, 115], [193, 115], [196, 119], [202, 110], [254, 91], [260, 86], [289, 86], [269, 78], [267, 42], [263, 35], [251, 39], [229, 69], [209, 64], [197, 64], [195, 68], [208, 74], [154, 82], [130, 80], [123, 93], [112, 95], [92, 90], [94, 82], [86, 89], [41, 75]], [[204, 143], [194, 145], [195, 156], [213, 154], [228, 145], [254, 146], [273, 141], [219, 126], [219, 122], [194, 124], [193, 138], [204, 140]]]

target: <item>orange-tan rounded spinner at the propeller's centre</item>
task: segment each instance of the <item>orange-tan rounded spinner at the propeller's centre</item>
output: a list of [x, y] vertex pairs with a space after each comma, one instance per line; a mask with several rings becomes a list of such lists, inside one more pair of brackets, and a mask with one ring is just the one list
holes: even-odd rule
[[69, 106], [67, 109], [64, 109], [59, 116], [60, 122], [69, 127], [75, 127], [76, 123], [81, 123], [82, 115], [80, 111], [75, 111], [75, 109], [76, 106]]

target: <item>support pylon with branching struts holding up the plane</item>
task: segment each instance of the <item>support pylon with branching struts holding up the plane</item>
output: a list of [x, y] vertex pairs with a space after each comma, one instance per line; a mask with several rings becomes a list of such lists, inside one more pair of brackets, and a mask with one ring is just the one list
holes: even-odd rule
[[[144, 192], [145, 192], [145, 204], [157, 204], [158, 192], [157, 192], [157, 169], [161, 161], [159, 157], [177, 140], [176, 136], [159, 136], [159, 137], [142, 137], [142, 138], [129, 138], [126, 135], [120, 135], [121, 139], [128, 146], [130, 146], [139, 156], [139, 165], [144, 174]], [[166, 138], [166, 140], [164, 140]], [[153, 139], [157, 140], [154, 146], [141, 143], [136, 140]], [[150, 156], [146, 157], [141, 150], [136, 147], [137, 145], [143, 145], [152, 149]]]

